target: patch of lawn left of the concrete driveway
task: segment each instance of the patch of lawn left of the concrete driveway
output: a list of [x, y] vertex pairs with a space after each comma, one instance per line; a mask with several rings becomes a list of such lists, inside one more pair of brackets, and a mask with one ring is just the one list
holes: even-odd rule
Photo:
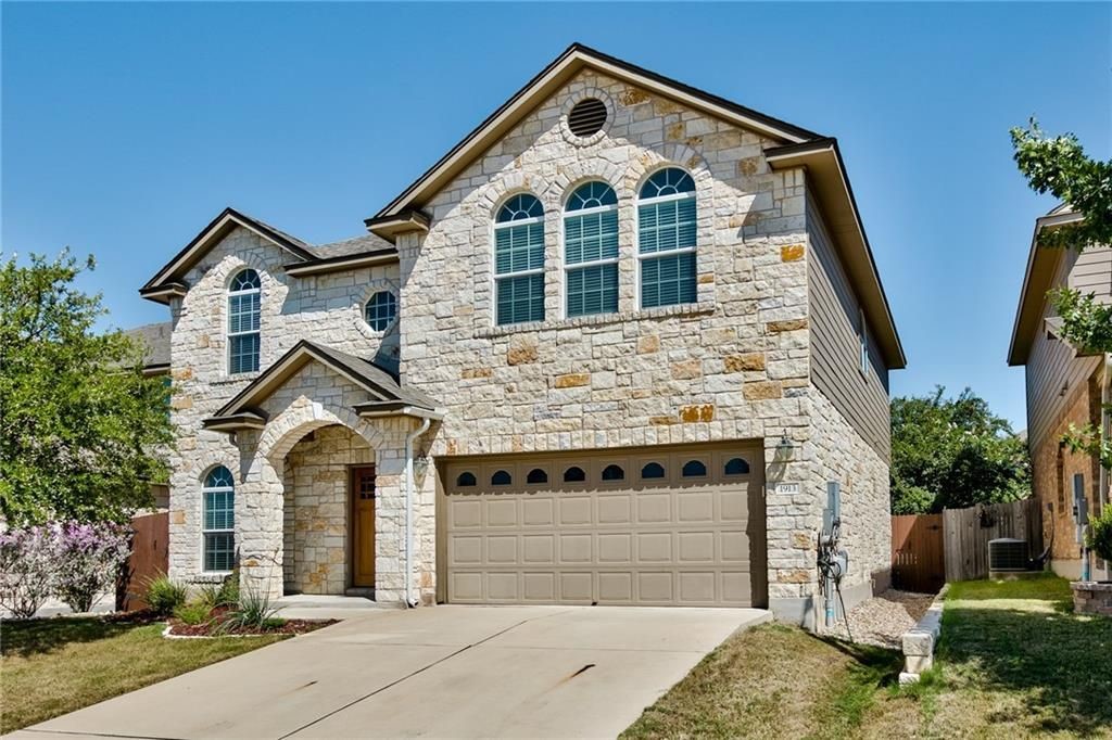
[[161, 622], [95, 617], [0, 623], [0, 732], [231, 658], [280, 637], [167, 640]]

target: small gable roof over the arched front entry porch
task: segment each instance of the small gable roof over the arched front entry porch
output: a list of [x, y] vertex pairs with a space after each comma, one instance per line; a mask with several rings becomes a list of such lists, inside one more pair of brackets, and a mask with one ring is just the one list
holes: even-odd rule
[[267, 414], [258, 406], [281, 388], [294, 373], [314, 361], [367, 391], [370, 400], [356, 406], [356, 411], [360, 414], [435, 414], [436, 401], [418, 390], [404, 388], [393, 374], [375, 363], [302, 339], [220, 407], [211, 418], [206, 419], [205, 428], [230, 431], [266, 423]]

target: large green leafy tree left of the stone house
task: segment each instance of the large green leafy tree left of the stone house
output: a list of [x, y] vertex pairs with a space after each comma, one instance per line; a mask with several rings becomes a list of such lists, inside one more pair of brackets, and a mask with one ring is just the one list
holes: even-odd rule
[[[92, 270], [92, 258], [83, 269]], [[107, 311], [81, 292], [68, 251], [0, 266], [0, 514], [126, 520], [150, 506], [171, 442], [167, 390], [142, 373], [143, 348], [97, 332]]]

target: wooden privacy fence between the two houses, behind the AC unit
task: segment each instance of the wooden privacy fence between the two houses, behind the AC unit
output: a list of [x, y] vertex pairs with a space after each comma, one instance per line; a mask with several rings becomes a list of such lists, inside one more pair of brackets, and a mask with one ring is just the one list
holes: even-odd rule
[[906, 591], [931, 593], [947, 581], [989, 576], [989, 540], [1027, 541], [1034, 558], [1042, 552], [1042, 510], [1034, 498], [946, 509], [941, 514], [892, 518], [892, 582]]

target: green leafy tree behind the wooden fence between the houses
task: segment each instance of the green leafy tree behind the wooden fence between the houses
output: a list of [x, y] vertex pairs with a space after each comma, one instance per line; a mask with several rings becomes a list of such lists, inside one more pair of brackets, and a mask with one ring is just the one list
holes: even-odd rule
[[966, 388], [892, 399], [892, 513], [937, 513], [1031, 492], [1027, 448]]

